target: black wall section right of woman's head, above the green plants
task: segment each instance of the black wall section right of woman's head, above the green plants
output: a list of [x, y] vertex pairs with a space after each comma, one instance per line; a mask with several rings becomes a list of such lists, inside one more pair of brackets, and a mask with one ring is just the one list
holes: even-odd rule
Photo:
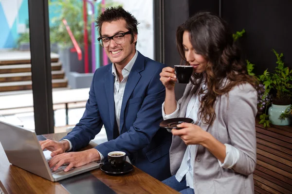
[[274, 70], [271, 49], [283, 52], [285, 65], [292, 65], [292, 0], [222, 0], [221, 13], [234, 32], [246, 30], [239, 42], [256, 74]]

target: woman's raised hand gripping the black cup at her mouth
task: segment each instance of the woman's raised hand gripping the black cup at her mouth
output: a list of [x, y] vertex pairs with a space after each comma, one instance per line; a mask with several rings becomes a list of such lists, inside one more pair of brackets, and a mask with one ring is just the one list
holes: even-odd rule
[[174, 68], [164, 67], [160, 73], [160, 81], [168, 90], [174, 89], [175, 82], [177, 81]]

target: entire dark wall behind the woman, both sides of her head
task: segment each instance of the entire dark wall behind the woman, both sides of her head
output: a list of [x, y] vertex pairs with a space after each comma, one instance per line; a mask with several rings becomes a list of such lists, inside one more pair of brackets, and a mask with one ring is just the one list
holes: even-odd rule
[[[243, 59], [255, 64], [256, 75], [262, 74], [266, 68], [274, 70], [277, 64], [272, 49], [283, 52], [285, 65], [292, 66], [292, 0], [164, 0], [166, 65], [180, 62], [175, 45], [178, 25], [199, 11], [217, 15], [220, 12], [232, 32], [246, 30], [238, 42]], [[178, 98], [184, 85], [177, 84], [177, 87]]]

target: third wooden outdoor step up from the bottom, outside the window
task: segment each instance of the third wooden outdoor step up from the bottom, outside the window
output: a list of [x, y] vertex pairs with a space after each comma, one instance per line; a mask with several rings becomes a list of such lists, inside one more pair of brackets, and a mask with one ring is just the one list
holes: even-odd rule
[[[62, 68], [62, 64], [60, 62], [52, 63], [51, 66], [52, 71], [60, 71]], [[31, 72], [31, 64], [0, 65], [0, 74], [21, 72]]]

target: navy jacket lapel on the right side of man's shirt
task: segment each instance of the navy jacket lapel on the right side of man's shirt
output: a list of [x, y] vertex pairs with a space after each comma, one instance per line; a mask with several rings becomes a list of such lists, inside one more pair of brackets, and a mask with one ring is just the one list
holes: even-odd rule
[[124, 126], [125, 109], [126, 109], [128, 99], [133, 93], [133, 90], [135, 89], [137, 83], [139, 82], [141, 78], [140, 72], [143, 71], [144, 68], [145, 68], [145, 57], [140, 52], [138, 52], [137, 59], [129, 73], [125, 91], [124, 91], [121, 114], [120, 114], [120, 133], [121, 134], [122, 134], [123, 126]]

